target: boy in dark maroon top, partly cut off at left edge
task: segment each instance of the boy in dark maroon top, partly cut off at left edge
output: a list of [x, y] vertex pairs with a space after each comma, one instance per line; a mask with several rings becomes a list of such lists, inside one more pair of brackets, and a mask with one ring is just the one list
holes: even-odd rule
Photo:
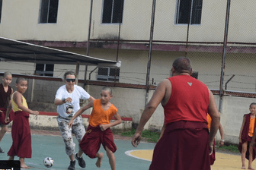
[[[6, 71], [4, 73], [4, 77], [2, 78], [3, 83], [0, 84], [0, 142], [2, 138], [5, 136], [5, 133], [8, 131], [7, 124], [9, 123], [9, 120], [12, 120], [12, 116], [14, 115], [13, 112], [11, 112], [11, 95], [13, 93], [12, 88], [9, 86], [12, 80], [11, 72]], [[8, 122], [5, 122], [7, 120], [9, 113], [11, 112], [11, 118], [8, 119]], [[7, 115], [7, 116], [6, 116]], [[6, 118], [5, 118], [6, 117]], [[0, 153], [5, 153], [4, 150], [0, 147]]]

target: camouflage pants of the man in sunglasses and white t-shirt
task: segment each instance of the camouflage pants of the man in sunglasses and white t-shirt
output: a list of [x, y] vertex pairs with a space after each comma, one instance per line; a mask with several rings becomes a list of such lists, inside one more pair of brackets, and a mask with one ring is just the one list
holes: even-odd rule
[[[71, 156], [72, 154], [75, 155], [75, 143], [73, 142], [72, 134], [75, 134], [75, 138], [78, 140], [78, 143], [80, 143], [85, 135], [85, 127], [82, 124], [82, 118], [75, 118], [72, 128], [69, 128], [70, 119], [71, 118], [62, 118], [60, 116], [57, 117], [59, 131], [62, 134], [62, 138], [66, 146], [66, 154], [68, 156]], [[81, 150], [80, 147], [79, 150]]]

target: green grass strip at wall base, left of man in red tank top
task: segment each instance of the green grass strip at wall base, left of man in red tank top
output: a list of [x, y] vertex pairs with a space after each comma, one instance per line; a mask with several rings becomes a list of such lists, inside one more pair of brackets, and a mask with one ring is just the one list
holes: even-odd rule
[[[132, 129], [132, 131], [126, 131], [121, 133], [122, 136], [125, 137], [133, 137], [133, 134], [135, 134], [135, 129]], [[159, 139], [160, 134], [157, 132], [152, 132], [149, 130], [142, 131], [142, 137], [146, 138], [148, 142], [157, 142]]]

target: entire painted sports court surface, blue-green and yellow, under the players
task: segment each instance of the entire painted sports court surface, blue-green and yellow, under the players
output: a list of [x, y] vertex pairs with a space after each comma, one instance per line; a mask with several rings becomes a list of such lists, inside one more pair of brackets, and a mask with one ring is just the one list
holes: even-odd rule
[[[78, 150], [78, 142], [74, 137], [76, 144], [76, 151]], [[12, 139], [11, 134], [5, 134], [1, 142], [1, 147], [5, 150], [5, 153], [0, 154], [0, 160], [7, 160], [7, 152], [11, 147]], [[152, 150], [155, 143], [140, 143], [137, 148], [133, 147], [130, 140], [115, 140], [117, 145], [116, 166], [119, 170], [144, 170], [149, 169], [150, 161], [152, 159]], [[104, 149], [101, 146], [100, 152], [104, 153], [104, 159], [102, 161], [101, 168], [95, 166], [97, 159], [90, 159], [88, 156], [83, 155], [86, 162], [86, 168], [89, 170], [101, 169], [110, 170], [108, 158]], [[45, 157], [52, 157], [54, 159], [54, 165], [51, 168], [46, 168], [43, 165], [43, 159]], [[18, 157], [15, 157], [18, 160]], [[30, 169], [67, 169], [69, 166], [69, 158], [65, 152], [65, 146], [60, 136], [32, 134], [32, 158], [25, 159], [25, 162]], [[212, 170], [235, 170], [241, 169], [241, 156], [239, 154], [230, 153], [216, 153], [216, 162], [212, 166]], [[248, 166], [248, 160], [246, 160], [246, 168]], [[252, 163], [252, 167], [256, 169], [256, 161]], [[0, 167], [1, 168], [1, 167]], [[78, 162], [75, 164], [75, 169], [80, 168]]]

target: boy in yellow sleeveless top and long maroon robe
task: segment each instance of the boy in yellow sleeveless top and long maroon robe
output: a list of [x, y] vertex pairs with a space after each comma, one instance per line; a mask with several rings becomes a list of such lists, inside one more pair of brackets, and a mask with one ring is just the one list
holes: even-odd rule
[[13, 93], [11, 99], [12, 109], [15, 112], [12, 128], [12, 146], [8, 152], [9, 159], [14, 160], [18, 156], [21, 162], [21, 168], [28, 168], [24, 158], [31, 158], [31, 134], [28, 122], [29, 114], [38, 115], [39, 112], [28, 109], [27, 101], [22, 95], [27, 90], [27, 80], [18, 77], [15, 87], [17, 91]]

